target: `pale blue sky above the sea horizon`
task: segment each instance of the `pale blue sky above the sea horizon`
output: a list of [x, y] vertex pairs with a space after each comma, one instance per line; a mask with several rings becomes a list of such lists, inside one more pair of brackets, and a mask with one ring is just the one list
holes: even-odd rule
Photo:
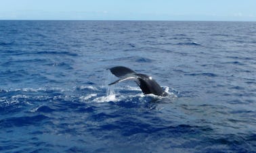
[[0, 20], [256, 21], [256, 1], [0, 0]]

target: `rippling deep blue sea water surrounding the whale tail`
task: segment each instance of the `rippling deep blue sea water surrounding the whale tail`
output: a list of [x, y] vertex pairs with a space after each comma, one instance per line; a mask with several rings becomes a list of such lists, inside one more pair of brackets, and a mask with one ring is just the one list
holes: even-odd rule
[[0, 152], [255, 152], [255, 74], [256, 22], [0, 21]]

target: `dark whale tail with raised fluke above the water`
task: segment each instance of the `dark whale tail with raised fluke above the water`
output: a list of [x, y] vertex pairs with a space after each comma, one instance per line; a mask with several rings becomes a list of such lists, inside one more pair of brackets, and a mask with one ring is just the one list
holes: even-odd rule
[[154, 94], [156, 96], [167, 96], [167, 92], [161, 88], [161, 86], [151, 77], [146, 74], [136, 73], [128, 67], [116, 66], [109, 69], [113, 75], [119, 80], [116, 80], [112, 84], [123, 82], [125, 80], [134, 80], [144, 94]]

